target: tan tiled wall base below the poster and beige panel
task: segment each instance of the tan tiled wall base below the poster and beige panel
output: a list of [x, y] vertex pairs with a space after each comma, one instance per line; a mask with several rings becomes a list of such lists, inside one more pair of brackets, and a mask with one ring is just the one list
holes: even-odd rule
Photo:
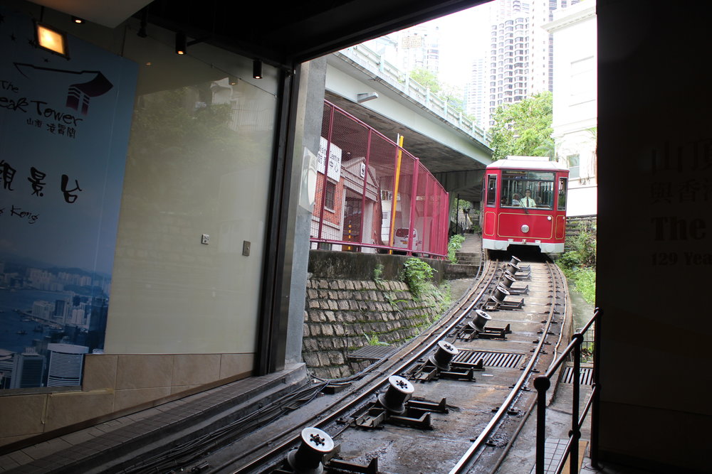
[[97, 424], [248, 377], [252, 354], [85, 357], [80, 389], [0, 392], [0, 446], [55, 430]]

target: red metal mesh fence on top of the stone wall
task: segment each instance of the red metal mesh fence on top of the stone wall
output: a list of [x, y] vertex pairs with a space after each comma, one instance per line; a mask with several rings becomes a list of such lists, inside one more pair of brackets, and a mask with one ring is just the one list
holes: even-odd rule
[[448, 193], [394, 141], [324, 102], [312, 248], [446, 257]]

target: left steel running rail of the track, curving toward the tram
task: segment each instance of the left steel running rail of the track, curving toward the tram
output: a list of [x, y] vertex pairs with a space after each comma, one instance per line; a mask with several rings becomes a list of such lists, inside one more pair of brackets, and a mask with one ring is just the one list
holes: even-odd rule
[[[466, 296], [465, 298], [461, 298], [461, 301], [464, 301], [464, 303], [462, 303], [462, 306], [466, 307], [464, 309], [458, 308], [456, 311], [453, 311], [453, 313], [458, 314], [458, 316], [456, 316], [455, 318], [451, 317], [447, 321], [441, 321], [439, 325], [436, 325], [434, 328], [431, 328], [431, 330], [426, 331], [426, 333], [417, 336], [417, 338], [415, 338], [414, 340], [417, 340], [418, 338], [421, 338], [423, 340], [418, 345], [416, 345], [415, 348], [405, 346], [404, 348], [402, 348], [402, 350], [399, 351], [404, 352], [407, 350], [410, 354], [410, 357], [407, 357], [407, 355], [398, 357], [397, 355], [399, 354], [399, 352], [396, 352], [393, 357], [397, 358], [397, 362], [390, 366], [380, 367], [380, 374], [383, 374], [383, 372], [387, 372], [387, 374], [376, 375], [372, 379], [362, 384], [359, 389], [365, 390], [364, 392], [357, 394], [353, 399], [348, 398], [352, 397], [354, 395], [354, 392], [346, 394], [345, 397], [342, 397], [341, 399], [335, 401], [334, 404], [325, 407], [325, 409], [323, 409], [320, 414], [317, 414], [312, 418], [308, 419], [301, 426], [295, 427], [295, 429], [291, 430], [291, 432], [297, 431], [299, 433], [301, 429], [310, 426], [323, 429], [325, 426], [333, 424], [344, 414], [347, 414], [348, 412], [353, 411], [357, 406], [364, 404], [367, 399], [372, 397], [372, 395], [377, 392], [379, 387], [388, 382], [388, 378], [391, 375], [400, 373], [409, 365], [412, 365], [417, 362], [419, 358], [423, 357], [426, 352], [434, 348], [434, 346], [439, 343], [440, 340], [444, 339], [446, 335], [451, 330], [453, 330], [456, 325], [461, 323], [461, 321], [466, 318], [467, 314], [472, 311], [476, 303], [481, 300], [483, 294], [495, 278], [498, 272], [499, 263], [500, 262], [498, 260], [495, 260], [493, 262], [488, 260], [486, 262], [486, 270], [483, 271], [483, 274], [488, 274], [487, 281], [485, 283], [483, 283], [482, 281], [479, 282], [476, 286], [473, 286], [473, 289], [470, 291], [470, 293], [468, 293], [468, 296]], [[475, 293], [476, 296], [472, 298]], [[470, 300], [470, 298], [472, 299]], [[467, 303], [467, 301], [469, 301], [469, 303]], [[434, 336], [436, 333], [437, 335]], [[416, 350], [417, 352], [413, 352], [414, 350]], [[398, 364], [398, 362], [400, 362], [400, 364]], [[348, 401], [346, 401], [347, 399]], [[329, 415], [321, 417], [320, 415], [323, 414], [325, 411], [328, 411]], [[285, 434], [284, 436], [287, 436], [287, 434]], [[241, 456], [241, 458], [245, 458], [246, 456], [249, 456], [250, 454], [258, 451], [259, 449], [271, 445], [271, 449], [268, 452], [263, 453], [258, 458], [251, 460], [246, 465], [242, 465], [239, 468], [230, 469], [230, 472], [234, 474], [262, 472], [262, 468], [264, 468], [265, 465], [273, 463], [280, 457], [280, 454], [286, 453], [286, 451], [288, 451], [288, 448], [296, 446], [299, 441], [299, 435], [289, 436], [288, 439], [282, 441], [265, 441], [260, 446], [256, 446], [250, 451], [244, 452], [244, 456]], [[230, 465], [236, 463], [236, 461], [236, 459], [233, 459], [228, 461], [227, 463], [224, 463], [224, 465], [217, 466], [215, 468], [215, 471], [227, 469]]]

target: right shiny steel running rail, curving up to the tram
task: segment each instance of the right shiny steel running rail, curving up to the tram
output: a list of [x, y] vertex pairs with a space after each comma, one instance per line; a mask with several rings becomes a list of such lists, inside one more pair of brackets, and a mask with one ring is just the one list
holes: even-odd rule
[[[553, 282], [554, 285], [558, 283], [557, 279], [555, 278], [554, 271], [552, 269], [552, 265], [549, 262], [545, 262], [546, 264], [546, 269], [549, 271], [549, 276], [551, 281]], [[546, 335], [549, 332], [549, 329], [551, 327], [551, 323], [553, 321], [553, 316], [554, 316], [554, 310], [555, 310], [555, 299], [556, 299], [556, 286], [554, 286], [553, 292], [552, 292], [552, 298], [554, 300], [554, 303], [551, 305], [551, 309], [549, 310], [549, 315], [547, 318], [547, 322], [545, 325], [545, 328], [542, 332], [542, 337], [539, 339], [539, 342], [537, 344], [537, 347], [535, 348], [534, 355], [530, 357], [530, 360], [528, 364], [526, 365], [525, 369], [523, 370], [522, 375], [519, 377], [518, 381], [514, 385], [514, 388], [511, 390], [509, 393], [508, 397], [505, 399], [503, 404], [499, 407], [497, 410], [496, 414], [492, 417], [492, 419], [489, 421], [487, 426], [481, 431], [479, 436], [473, 441], [473, 443], [470, 445], [468, 450], [465, 452], [464, 456], [460, 458], [460, 460], [454, 465], [454, 467], [450, 470], [449, 474], [461, 474], [467, 472], [467, 470], [471, 467], [471, 461], [473, 460], [474, 456], [480, 449], [482, 448], [483, 444], [485, 441], [489, 438], [491, 433], [494, 431], [496, 426], [500, 424], [503, 416], [506, 414], [508, 411], [509, 407], [511, 406], [512, 402], [514, 401], [515, 397], [520, 392], [520, 389], [524, 386], [525, 382], [532, 376], [533, 372], [532, 369], [535, 365], [535, 363], [538, 361], [539, 356], [541, 355], [541, 350], [543, 348], [543, 345], [546, 340]]]

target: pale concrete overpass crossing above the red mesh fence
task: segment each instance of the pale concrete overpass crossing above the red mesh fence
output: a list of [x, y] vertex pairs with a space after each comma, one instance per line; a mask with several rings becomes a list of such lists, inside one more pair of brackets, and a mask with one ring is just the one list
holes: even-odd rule
[[[360, 102], [359, 99], [377, 98]], [[364, 96], [359, 97], [362, 94]], [[325, 99], [420, 158], [451, 198], [479, 202], [489, 137], [392, 65], [359, 45], [327, 56]]]

